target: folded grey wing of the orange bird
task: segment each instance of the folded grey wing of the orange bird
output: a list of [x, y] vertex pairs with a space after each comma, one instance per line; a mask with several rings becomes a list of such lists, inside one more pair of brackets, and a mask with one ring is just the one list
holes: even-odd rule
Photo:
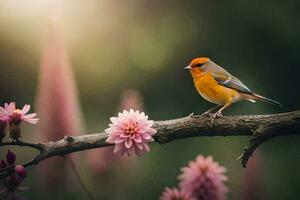
[[242, 83], [239, 79], [235, 78], [234, 76], [228, 74], [221, 74], [221, 73], [211, 73], [214, 79], [222, 86], [235, 89], [239, 92], [243, 92], [246, 94], [252, 94], [253, 92]]

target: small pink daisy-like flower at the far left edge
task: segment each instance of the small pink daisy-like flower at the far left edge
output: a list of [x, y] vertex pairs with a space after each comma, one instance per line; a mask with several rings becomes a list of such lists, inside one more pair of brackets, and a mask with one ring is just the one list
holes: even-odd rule
[[17, 109], [15, 102], [4, 104], [4, 108], [0, 106], [0, 119], [6, 120], [9, 123], [19, 125], [22, 121], [31, 124], [38, 123], [39, 119], [35, 118], [36, 113], [27, 114], [30, 110], [30, 105], [26, 104], [22, 109]]

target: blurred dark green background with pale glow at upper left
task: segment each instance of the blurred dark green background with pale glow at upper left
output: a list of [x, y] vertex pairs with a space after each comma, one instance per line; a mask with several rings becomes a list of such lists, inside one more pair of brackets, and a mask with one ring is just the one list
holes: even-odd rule
[[[300, 102], [299, 6], [295, 0], [2, 0], [0, 102], [34, 104], [43, 37], [54, 16], [64, 33], [87, 133], [107, 127], [126, 89], [141, 93], [145, 111], [154, 120], [200, 114], [212, 107], [197, 94], [190, 74], [183, 70], [198, 56], [210, 57], [253, 91], [283, 104], [279, 109], [240, 102], [225, 115], [295, 110]], [[28, 137], [36, 131], [33, 126], [26, 128]], [[126, 169], [116, 162], [97, 180], [87, 164], [79, 168], [99, 199], [151, 200], [158, 199], [165, 186], [176, 186], [180, 168], [197, 154], [213, 155], [228, 170], [228, 198], [246, 199], [245, 169], [236, 158], [247, 139], [201, 137], [154, 144], [151, 153], [133, 158]], [[258, 185], [264, 199], [299, 199], [299, 145], [297, 136], [289, 136], [259, 148]], [[33, 153], [15, 151], [22, 155], [20, 162]], [[4, 152], [2, 148], [2, 157]], [[87, 199], [71, 173], [70, 183], [57, 183], [57, 194], [43, 192], [35, 180], [36, 168], [29, 169], [23, 183], [30, 187], [24, 197]]]

